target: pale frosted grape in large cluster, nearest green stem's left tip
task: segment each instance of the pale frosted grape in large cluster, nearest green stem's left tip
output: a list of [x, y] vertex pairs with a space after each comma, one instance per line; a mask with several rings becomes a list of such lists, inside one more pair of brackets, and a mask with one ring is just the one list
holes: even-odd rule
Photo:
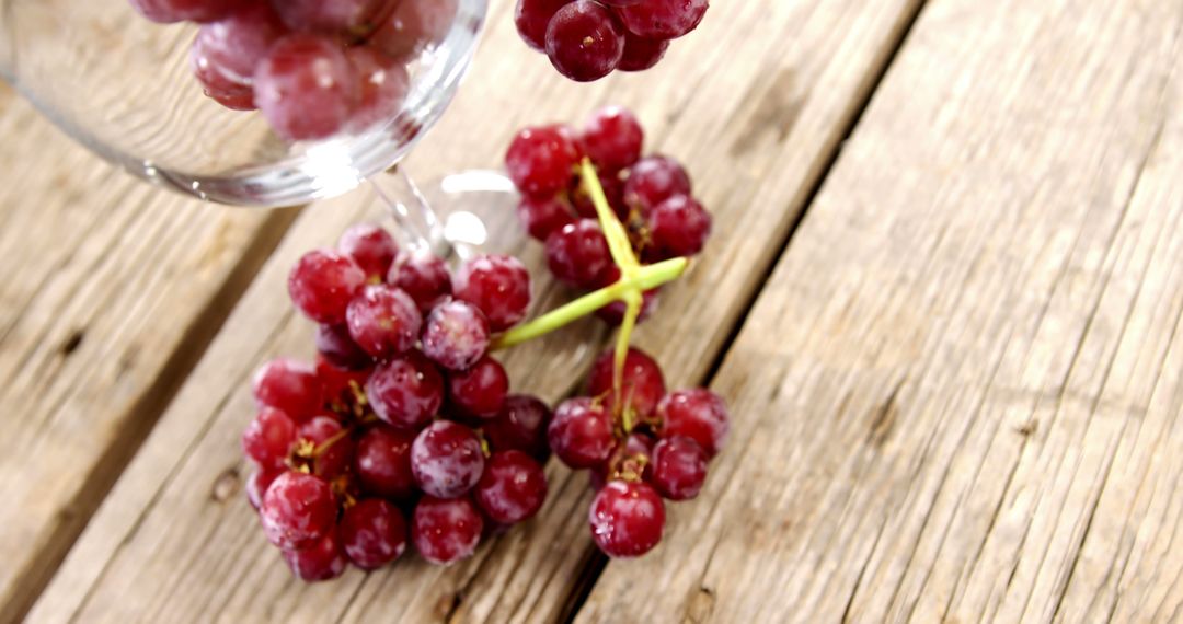
[[471, 369], [489, 350], [489, 321], [477, 306], [455, 299], [427, 314], [424, 355], [448, 370]]

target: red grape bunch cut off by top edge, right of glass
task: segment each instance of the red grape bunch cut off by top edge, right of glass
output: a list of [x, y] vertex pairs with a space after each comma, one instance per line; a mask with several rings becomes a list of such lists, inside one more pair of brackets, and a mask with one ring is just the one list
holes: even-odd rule
[[658, 64], [703, 21], [709, 0], [518, 0], [515, 22], [563, 76], [587, 83]]

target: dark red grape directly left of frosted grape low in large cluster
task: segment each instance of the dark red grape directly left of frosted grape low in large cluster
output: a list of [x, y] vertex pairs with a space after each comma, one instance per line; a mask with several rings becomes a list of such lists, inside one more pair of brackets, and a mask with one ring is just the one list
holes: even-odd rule
[[357, 441], [354, 473], [363, 490], [383, 499], [403, 500], [415, 492], [411, 443], [415, 435], [376, 425]]

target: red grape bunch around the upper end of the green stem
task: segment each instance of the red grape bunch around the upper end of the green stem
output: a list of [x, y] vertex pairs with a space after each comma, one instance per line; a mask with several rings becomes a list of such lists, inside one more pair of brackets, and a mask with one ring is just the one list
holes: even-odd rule
[[[613, 212], [628, 229], [642, 262], [687, 258], [703, 251], [711, 235], [711, 215], [691, 194], [690, 175], [673, 158], [641, 157], [645, 132], [627, 109], [607, 106], [592, 115], [582, 131], [567, 125], [518, 132], [505, 156], [510, 178], [522, 193], [518, 216], [531, 236], [547, 245], [547, 265], [575, 288], [596, 290], [620, 279], [595, 207], [578, 175], [592, 160]], [[657, 304], [645, 295], [642, 318]], [[613, 304], [600, 318], [619, 325], [623, 305]]]

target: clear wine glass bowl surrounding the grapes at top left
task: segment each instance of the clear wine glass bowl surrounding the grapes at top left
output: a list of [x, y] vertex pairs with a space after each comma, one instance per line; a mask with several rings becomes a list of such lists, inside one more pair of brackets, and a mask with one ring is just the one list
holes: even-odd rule
[[459, 0], [447, 35], [411, 64], [400, 110], [358, 134], [286, 143], [260, 113], [202, 95], [196, 25], [154, 24], [128, 0], [0, 2], [0, 74], [56, 124], [149, 181], [257, 207], [338, 195], [399, 162], [455, 95], [487, 8]]

